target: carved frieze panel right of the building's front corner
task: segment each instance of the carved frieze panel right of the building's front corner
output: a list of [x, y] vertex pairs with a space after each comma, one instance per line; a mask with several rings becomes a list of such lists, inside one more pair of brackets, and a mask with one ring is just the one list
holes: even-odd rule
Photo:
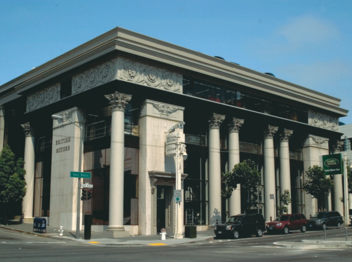
[[139, 62], [118, 59], [119, 80], [182, 93], [182, 75]]

